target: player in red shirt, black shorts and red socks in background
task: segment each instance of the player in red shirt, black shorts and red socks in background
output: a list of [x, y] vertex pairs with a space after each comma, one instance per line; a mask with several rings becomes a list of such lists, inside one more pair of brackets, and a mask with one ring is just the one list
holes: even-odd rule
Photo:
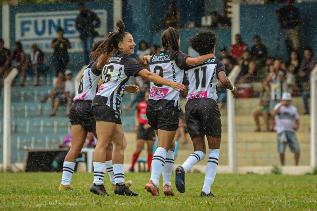
[[153, 158], [153, 146], [155, 141], [155, 132], [148, 124], [146, 117], [147, 100], [149, 99], [149, 92], [145, 93], [145, 100], [137, 105], [135, 111], [135, 126], [137, 129], [137, 146], [132, 156], [132, 163], [130, 172], [134, 172], [134, 164], [137, 162], [139, 154], [144, 148], [144, 143], [147, 142], [147, 171], [150, 172]]

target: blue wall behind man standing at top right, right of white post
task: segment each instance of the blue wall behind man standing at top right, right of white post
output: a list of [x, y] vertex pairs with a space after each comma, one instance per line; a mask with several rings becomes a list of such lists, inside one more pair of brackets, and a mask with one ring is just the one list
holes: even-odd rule
[[[287, 59], [283, 34], [274, 11], [282, 4], [241, 6], [241, 35], [243, 41], [253, 44], [254, 35], [260, 35], [271, 56]], [[301, 49], [310, 46], [317, 51], [317, 3], [295, 4], [301, 11]]]

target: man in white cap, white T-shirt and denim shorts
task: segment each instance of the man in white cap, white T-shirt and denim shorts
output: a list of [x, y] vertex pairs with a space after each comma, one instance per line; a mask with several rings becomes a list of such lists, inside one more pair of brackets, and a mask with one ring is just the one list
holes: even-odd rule
[[290, 104], [291, 100], [291, 93], [283, 93], [282, 102], [276, 104], [272, 112], [276, 122], [277, 151], [280, 153], [282, 165], [285, 165], [284, 153], [286, 144], [289, 145], [290, 150], [294, 153], [295, 165], [299, 163], [300, 147], [294, 132], [300, 126], [299, 114], [297, 108]]

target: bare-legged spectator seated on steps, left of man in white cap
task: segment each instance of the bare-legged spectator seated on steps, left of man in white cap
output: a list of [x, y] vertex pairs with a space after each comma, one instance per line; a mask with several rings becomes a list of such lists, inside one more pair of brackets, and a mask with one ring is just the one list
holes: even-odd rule
[[266, 130], [265, 131], [270, 131], [270, 126], [269, 126], [269, 118], [270, 118], [270, 112], [269, 112], [269, 102], [270, 102], [270, 95], [265, 92], [265, 89], [263, 87], [262, 92], [260, 93], [260, 106], [262, 107], [259, 110], [256, 110], [253, 113], [254, 121], [256, 122], [256, 130], [255, 132], [260, 132], [261, 131], [261, 125], [259, 121], [259, 117], [263, 117]]

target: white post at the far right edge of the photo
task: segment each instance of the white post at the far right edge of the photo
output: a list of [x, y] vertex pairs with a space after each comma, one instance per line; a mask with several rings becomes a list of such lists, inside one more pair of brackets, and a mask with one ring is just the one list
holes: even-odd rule
[[317, 65], [310, 73], [310, 166], [317, 167]]

